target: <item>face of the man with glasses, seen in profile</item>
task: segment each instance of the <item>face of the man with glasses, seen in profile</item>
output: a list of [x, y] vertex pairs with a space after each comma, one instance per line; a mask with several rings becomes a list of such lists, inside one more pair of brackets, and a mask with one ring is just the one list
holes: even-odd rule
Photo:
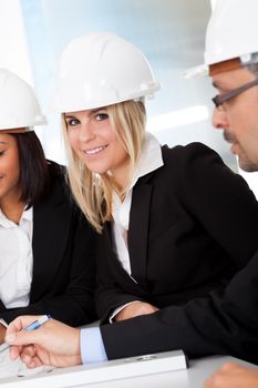
[[[255, 79], [255, 74], [242, 68], [214, 75], [213, 83], [219, 94], [224, 94]], [[225, 140], [231, 143], [231, 152], [238, 155], [240, 167], [249, 172], [257, 171], [258, 86], [215, 108], [213, 124], [224, 131]]]

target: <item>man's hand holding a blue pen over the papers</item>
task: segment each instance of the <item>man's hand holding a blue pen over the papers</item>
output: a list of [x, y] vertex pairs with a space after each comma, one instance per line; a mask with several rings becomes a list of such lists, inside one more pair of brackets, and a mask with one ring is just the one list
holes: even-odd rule
[[82, 364], [80, 330], [50, 319], [37, 330], [22, 331], [39, 318], [40, 316], [21, 316], [9, 325], [6, 341], [11, 345], [10, 357], [21, 357], [28, 368]]

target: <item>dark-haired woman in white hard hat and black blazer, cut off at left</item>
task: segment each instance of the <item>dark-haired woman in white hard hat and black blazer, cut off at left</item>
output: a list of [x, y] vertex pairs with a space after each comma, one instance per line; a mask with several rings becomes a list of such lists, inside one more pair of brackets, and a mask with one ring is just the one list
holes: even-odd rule
[[0, 70], [0, 317], [95, 318], [93, 233], [72, 203], [65, 170], [47, 161], [32, 89]]

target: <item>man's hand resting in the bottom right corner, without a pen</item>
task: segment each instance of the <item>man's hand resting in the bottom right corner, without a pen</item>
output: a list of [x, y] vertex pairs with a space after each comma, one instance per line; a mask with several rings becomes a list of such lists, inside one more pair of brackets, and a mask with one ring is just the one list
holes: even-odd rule
[[258, 370], [227, 363], [205, 384], [205, 388], [257, 388]]

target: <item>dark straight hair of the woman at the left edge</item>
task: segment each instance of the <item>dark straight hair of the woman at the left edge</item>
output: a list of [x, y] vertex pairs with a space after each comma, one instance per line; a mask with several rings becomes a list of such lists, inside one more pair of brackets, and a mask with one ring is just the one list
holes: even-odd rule
[[34, 131], [12, 133], [17, 140], [20, 163], [21, 201], [34, 206], [49, 191], [49, 169], [43, 147]]

